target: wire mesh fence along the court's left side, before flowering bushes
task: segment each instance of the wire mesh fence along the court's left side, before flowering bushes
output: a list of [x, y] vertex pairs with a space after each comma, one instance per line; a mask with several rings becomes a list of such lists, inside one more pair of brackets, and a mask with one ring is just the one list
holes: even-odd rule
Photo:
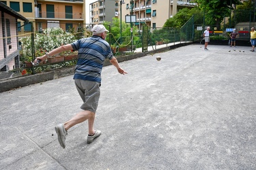
[[[6, 43], [0, 44], [0, 49], [3, 51], [0, 56], [0, 79], [75, 65], [78, 55], [74, 51], [61, 52], [38, 66], [33, 66], [31, 61], [59, 46], [92, 35], [90, 24], [8, 21], [7, 26], [9, 25], [10, 29], [6, 29], [7, 34], [1, 37]], [[147, 46], [191, 41], [193, 39], [191, 22], [193, 20], [188, 21], [182, 29], [149, 28], [146, 38]], [[106, 41], [111, 45], [115, 56], [130, 54], [135, 50], [142, 52], [143, 34], [140, 31], [133, 35], [117, 37], [113, 35], [113, 28], [109, 24], [104, 26], [109, 30]]]

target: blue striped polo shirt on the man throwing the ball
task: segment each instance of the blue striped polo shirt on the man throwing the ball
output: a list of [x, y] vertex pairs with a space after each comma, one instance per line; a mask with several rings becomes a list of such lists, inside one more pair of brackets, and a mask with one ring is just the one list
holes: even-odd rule
[[113, 53], [109, 43], [102, 37], [79, 39], [71, 44], [73, 50], [78, 51], [78, 61], [74, 73], [74, 79], [101, 82], [101, 71], [105, 58], [111, 60]]

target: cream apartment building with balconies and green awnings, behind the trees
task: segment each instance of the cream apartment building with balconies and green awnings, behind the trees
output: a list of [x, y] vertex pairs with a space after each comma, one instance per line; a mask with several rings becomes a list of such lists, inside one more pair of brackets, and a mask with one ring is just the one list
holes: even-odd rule
[[190, 0], [124, 0], [122, 16], [119, 17], [125, 20], [126, 16], [136, 16], [134, 25], [139, 27], [139, 30], [143, 24], [148, 27], [162, 27], [166, 20], [177, 14], [180, 9], [192, 8], [195, 5], [197, 4], [190, 3]]

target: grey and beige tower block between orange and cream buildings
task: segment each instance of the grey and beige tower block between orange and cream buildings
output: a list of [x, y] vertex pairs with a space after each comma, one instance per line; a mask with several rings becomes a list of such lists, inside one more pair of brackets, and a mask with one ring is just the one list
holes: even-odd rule
[[115, 0], [98, 0], [89, 4], [89, 18], [92, 27], [104, 21], [112, 21], [118, 16], [118, 3]]

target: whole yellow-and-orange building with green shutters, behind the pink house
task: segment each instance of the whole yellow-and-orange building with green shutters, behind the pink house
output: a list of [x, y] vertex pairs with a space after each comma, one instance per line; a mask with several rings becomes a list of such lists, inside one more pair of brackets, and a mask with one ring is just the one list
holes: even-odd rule
[[[42, 31], [49, 27], [76, 29], [85, 24], [85, 0], [7, 0], [1, 1], [18, 12], [29, 22], [33, 22], [34, 31]], [[31, 32], [31, 23], [18, 20], [18, 34]]]

